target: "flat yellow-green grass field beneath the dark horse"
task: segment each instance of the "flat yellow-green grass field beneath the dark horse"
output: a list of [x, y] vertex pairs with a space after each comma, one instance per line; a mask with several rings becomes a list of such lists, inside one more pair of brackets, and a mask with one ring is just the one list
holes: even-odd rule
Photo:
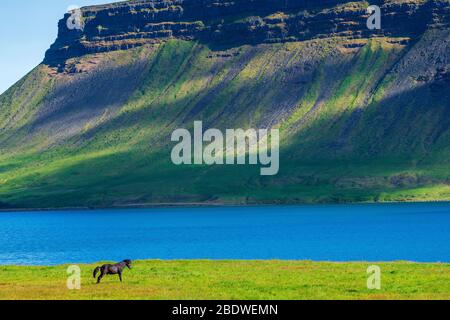
[[80, 290], [67, 266], [0, 267], [0, 299], [450, 299], [450, 264], [377, 263], [381, 289], [367, 289], [371, 263], [308, 261], [136, 261], [124, 283], [95, 284], [80, 265]]

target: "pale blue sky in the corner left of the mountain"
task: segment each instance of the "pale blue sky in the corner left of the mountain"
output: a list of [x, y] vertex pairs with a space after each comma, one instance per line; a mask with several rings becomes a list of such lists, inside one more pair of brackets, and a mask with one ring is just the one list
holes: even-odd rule
[[55, 41], [58, 21], [70, 5], [113, 0], [2, 0], [0, 3], [0, 94], [42, 62]]

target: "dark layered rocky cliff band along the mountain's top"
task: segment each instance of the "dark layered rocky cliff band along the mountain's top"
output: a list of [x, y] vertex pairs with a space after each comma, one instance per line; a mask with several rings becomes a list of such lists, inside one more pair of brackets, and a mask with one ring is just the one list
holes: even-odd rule
[[448, 0], [372, 1], [381, 6], [382, 29], [366, 27], [366, 1], [349, 0], [147, 0], [82, 9], [84, 30], [59, 22], [58, 39], [45, 63], [130, 49], [170, 38], [199, 39], [216, 45], [301, 41], [343, 36], [417, 37], [427, 28], [447, 28]]

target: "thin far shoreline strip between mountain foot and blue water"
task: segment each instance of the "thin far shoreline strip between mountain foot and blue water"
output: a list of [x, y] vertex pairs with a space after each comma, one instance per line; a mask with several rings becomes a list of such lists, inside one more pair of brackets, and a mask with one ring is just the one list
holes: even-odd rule
[[295, 206], [339, 206], [339, 205], [387, 205], [387, 204], [450, 204], [450, 200], [423, 200], [423, 201], [381, 201], [381, 202], [328, 202], [328, 203], [207, 203], [207, 202], [186, 202], [186, 203], [144, 203], [117, 205], [108, 207], [54, 207], [54, 208], [2, 208], [3, 212], [48, 212], [48, 211], [100, 211], [100, 210], [123, 210], [123, 209], [171, 209], [171, 208], [232, 208], [232, 207], [295, 207]]

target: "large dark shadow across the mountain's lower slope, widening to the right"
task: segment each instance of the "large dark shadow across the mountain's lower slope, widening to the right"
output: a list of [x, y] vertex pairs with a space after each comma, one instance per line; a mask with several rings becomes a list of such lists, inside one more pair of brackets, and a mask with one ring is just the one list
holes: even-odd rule
[[[428, 173], [426, 162], [421, 164], [425, 157], [448, 145], [448, 141], [440, 141], [448, 137], [450, 120], [448, 97], [442, 95], [441, 86], [448, 88], [448, 82], [423, 86], [369, 106], [358, 121], [352, 120], [351, 132], [344, 129], [349, 117], [342, 114], [342, 125], [336, 128], [346, 132], [345, 140], [340, 135], [335, 139], [317, 137], [315, 146], [308, 143], [283, 149], [280, 173], [274, 177], [259, 176], [258, 166], [175, 166], [170, 162], [170, 147], [155, 151], [141, 145], [126, 152], [80, 158], [73, 165], [41, 176], [33, 185], [24, 186], [29, 190], [22, 194], [21, 203], [76, 206], [83, 199], [89, 206], [102, 207], [226, 199], [242, 203], [374, 201], [390, 189], [448, 184], [445, 177]], [[414, 100], [418, 97], [423, 98]], [[420, 104], [430, 98], [439, 98], [439, 103]], [[420, 118], [423, 121], [418, 121]], [[436, 122], [439, 118], [444, 119], [442, 124]], [[379, 124], [374, 132], [361, 129], [368, 121]], [[411, 123], [415, 125], [411, 127]], [[323, 126], [313, 124], [297, 138], [320, 131], [324, 136], [329, 134]], [[429, 158], [428, 164], [433, 161], [441, 160]], [[448, 162], [439, 165], [445, 167]]]

